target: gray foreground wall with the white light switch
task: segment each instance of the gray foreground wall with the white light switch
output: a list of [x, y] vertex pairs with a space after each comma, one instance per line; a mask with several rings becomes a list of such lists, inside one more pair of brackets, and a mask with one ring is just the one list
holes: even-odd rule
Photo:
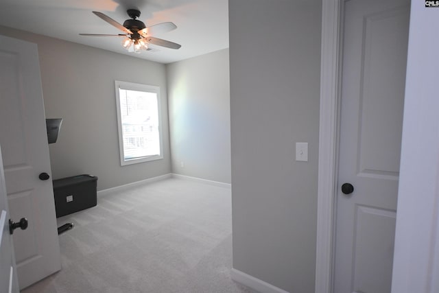
[[228, 5], [233, 268], [314, 292], [321, 1]]

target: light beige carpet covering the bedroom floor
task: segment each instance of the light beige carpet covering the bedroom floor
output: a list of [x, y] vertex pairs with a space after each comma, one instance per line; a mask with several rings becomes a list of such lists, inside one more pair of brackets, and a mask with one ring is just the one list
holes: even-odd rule
[[170, 178], [58, 218], [62, 270], [23, 293], [254, 292], [230, 279], [230, 189]]

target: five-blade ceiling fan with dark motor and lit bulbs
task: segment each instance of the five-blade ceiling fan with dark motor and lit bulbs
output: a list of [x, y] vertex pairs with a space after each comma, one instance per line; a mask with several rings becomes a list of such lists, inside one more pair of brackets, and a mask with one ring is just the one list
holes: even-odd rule
[[119, 30], [124, 32], [124, 34], [80, 34], [81, 36], [119, 36], [123, 37], [122, 47], [128, 51], [134, 51], [140, 53], [141, 50], [149, 50], [149, 44], [158, 45], [162, 47], [167, 47], [170, 49], [180, 49], [181, 45], [177, 43], [170, 42], [169, 40], [163, 40], [161, 38], [155, 38], [152, 35], [161, 34], [164, 32], [170, 32], [175, 30], [177, 26], [174, 23], [158, 23], [156, 25], [151, 25], [147, 27], [145, 23], [137, 20], [140, 16], [140, 11], [137, 9], [128, 9], [128, 16], [131, 19], [127, 19], [123, 22], [123, 25], [111, 19], [109, 16], [102, 12], [93, 11], [93, 13], [99, 16], [101, 19], [110, 23], [110, 25], [117, 27]]

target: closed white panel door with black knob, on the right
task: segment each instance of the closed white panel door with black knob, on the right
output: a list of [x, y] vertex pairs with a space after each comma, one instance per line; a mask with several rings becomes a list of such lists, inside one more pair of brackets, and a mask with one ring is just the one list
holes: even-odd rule
[[390, 293], [410, 1], [344, 8], [333, 292]]

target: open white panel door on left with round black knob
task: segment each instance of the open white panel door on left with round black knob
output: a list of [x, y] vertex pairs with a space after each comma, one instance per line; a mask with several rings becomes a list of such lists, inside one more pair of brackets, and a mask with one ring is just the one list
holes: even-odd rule
[[0, 144], [10, 218], [25, 217], [14, 232], [16, 269], [25, 288], [61, 268], [49, 147], [35, 44], [0, 36]]

